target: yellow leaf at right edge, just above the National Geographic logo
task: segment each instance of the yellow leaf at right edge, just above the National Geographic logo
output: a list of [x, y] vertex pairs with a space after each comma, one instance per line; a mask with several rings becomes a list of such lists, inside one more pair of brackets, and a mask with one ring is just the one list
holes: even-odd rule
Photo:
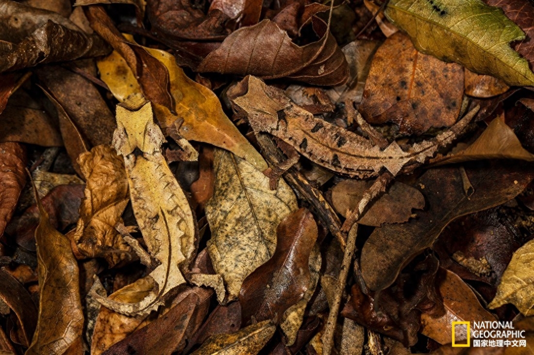
[[534, 240], [515, 251], [497, 287], [497, 294], [488, 304], [495, 309], [513, 303], [525, 316], [534, 315]]

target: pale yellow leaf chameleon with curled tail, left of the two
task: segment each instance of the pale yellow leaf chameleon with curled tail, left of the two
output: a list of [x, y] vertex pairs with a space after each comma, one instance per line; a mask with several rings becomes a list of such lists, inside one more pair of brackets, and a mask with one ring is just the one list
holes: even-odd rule
[[130, 96], [117, 106], [117, 125], [113, 144], [124, 158], [133, 213], [148, 254], [159, 265], [147, 276], [156, 286], [142, 301], [121, 303], [93, 296], [114, 311], [133, 315], [155, 310], [170, 291], [185, 283], [180, 268], [193, 258], [197, 233], [189, 202], [161, 154], [164, 138], [153, 121], [150, 102], [141, 94]]

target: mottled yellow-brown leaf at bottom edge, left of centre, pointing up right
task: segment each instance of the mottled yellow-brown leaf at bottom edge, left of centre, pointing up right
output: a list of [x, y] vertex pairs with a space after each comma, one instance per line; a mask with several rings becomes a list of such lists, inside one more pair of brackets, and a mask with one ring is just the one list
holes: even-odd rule
[[232, 334], [214, 335], [191, 355], [254, 355], [260, 352], [275, 330], [276, 326], [265, 320]]

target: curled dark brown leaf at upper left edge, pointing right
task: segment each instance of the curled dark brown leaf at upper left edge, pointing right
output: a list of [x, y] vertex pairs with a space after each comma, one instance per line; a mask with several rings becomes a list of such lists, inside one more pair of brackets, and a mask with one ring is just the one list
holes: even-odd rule
[[[74, 26], [74, 25], [73, 25]], [[49, 20], [8, 53], [0, 53], [0, 72], [37, 64], [105, 55], [111, 48], [96, 35], [86, 35]]]

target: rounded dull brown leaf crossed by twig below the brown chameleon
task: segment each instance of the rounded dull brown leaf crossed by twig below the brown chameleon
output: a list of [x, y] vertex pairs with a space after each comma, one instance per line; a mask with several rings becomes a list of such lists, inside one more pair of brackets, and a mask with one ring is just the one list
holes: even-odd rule
[[[347, 217], [347, 211], [358, 207], [364, 192], [373, 181], [344, 180], [332, 188], [332, 204], [336, 211]], [[380, 227], [382, 223], [402, 223], [412, 216], [412, 209], [425, 207], [425, 197], [410, 185], [402, 182], [391, 184], [388, 191], [374, 201], [358, 221], [359, 224]]]

